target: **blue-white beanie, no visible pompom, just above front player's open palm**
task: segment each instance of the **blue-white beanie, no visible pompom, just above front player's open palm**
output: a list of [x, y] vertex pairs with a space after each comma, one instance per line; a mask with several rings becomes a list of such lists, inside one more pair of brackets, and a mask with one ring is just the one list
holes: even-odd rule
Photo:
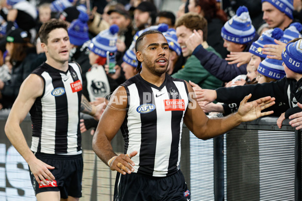
[[265, 58], [258, 66], [258, 73], [273, 79], [282, 79], [285, 76], [282, 61], [277, 59]]

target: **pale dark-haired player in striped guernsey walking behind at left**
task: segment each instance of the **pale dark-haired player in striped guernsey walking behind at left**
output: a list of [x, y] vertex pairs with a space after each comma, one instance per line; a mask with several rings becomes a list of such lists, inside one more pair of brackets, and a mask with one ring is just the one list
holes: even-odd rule
[[[5, 132], [29, 165], [38, 201], [79, 200], [83, 174], [80, 111], [98, 119], [100, 110], [82, 95], [80, 66], [68, 63], [67, 25], [48, 21], [39, 36], [47, 60], [22, 83]], [[33, 127], [31, 148], [19, 125], [28, 112]]]

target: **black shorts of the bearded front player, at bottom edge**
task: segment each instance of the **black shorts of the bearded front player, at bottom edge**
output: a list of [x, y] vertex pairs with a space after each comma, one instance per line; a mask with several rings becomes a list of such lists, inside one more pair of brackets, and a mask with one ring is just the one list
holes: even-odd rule
[[148, 177], [131, 173], [117, 173], [114, 188], [114, 201], [189, 201], [190, 191], [179, 170], [167, 177]]

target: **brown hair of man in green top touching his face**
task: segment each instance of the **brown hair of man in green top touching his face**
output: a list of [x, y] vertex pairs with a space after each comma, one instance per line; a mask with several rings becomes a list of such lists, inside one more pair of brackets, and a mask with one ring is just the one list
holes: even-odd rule
[[203, 41], [207, 39], [207, 21], [204, 17], [198, 15], [197, 13], [186, 13], [177, 19], [175, 27], [185, 26], [190, 29], [192, 32], [195, 29], [196, 31], [201, 30], [203, 32]]

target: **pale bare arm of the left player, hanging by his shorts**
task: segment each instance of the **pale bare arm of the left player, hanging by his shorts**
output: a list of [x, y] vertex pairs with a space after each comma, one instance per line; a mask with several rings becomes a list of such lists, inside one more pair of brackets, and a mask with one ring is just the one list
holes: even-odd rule
[[24, 120], [29, 110], [33, 106], [35, 99], [42, 95], [44, 82], [41, 77], [30, 74], [22, 83], [17, 99], [9, 114], [5, 125], [5, 133], [11, 141], [12, 145], [23, 156], [33, 172], [38, 183], [45, 179], [53, 181], [54, 176], [48, 169], [54, 167], [38, 160], [28, 147], [20, 123]]

